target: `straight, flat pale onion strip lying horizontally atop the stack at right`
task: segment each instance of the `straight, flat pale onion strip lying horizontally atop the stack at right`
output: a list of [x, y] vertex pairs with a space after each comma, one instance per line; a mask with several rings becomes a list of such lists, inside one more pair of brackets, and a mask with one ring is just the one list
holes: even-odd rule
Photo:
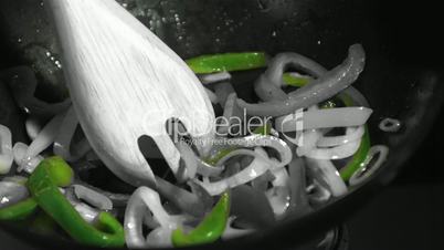
[[285, 133], [298, 131], [299, 124], [303, 125], [303, 129], [361, 126], [367, 123], [372, 112], [368, 107], [337, 107], [307, 111], [298, 117], [287, 115], [276, 118], [275, 127], [278, 132]]

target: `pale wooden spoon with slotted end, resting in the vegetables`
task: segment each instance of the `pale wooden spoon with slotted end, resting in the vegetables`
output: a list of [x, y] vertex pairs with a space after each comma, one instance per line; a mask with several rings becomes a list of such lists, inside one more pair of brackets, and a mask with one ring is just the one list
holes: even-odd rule
[[214, 112], [187, 64], [114, 0], [45, 0], [63, 51], [75, 112], [92, 147], [118, 177], [156, 186], [138, 146], [150, 136], [177, 174], [180, 154], [166, 131], [178, 118], [199, 139], [214, 135]]

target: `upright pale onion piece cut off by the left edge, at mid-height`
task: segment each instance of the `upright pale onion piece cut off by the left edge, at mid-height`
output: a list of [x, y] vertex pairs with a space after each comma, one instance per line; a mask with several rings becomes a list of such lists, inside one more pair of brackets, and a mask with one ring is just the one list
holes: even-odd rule
[[0, 175], [9, 173], [13, 159], [11, 131], [0, 124]]

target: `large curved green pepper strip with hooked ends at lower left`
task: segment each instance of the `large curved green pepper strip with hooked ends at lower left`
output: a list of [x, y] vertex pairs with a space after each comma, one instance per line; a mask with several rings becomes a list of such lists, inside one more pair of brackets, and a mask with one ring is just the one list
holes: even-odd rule
[[108, 212], [101, 212], [95, 225], [86, 222], [59, 190], [71, 184], [73, 170], [61, 157], [44, 159], [28, 180], [31, 195], [74, 240], [94, 247], [123, 247], [125, 232]]

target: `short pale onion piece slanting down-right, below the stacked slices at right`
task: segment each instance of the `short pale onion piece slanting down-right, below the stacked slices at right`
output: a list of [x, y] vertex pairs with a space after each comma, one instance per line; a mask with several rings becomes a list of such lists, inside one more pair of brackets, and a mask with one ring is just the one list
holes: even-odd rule
[[309, 175], [327, 187], [332, 196], [347, 194], [347, 186], [330, 160], [307, 158], [306, 162]]

